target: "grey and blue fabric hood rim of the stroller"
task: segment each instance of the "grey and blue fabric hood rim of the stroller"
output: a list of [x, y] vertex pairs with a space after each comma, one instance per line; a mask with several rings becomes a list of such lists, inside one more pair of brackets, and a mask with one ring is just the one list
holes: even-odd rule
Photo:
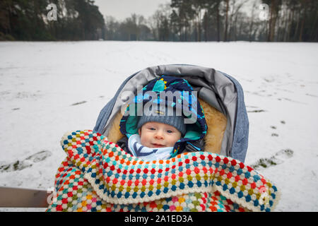
[[107, 136], [110, 122], [128, 100], [127, 93], [136, 95], [137, 88], [158, 76], [175, 76], [186, 79], [198, 97], [218, 109], [228, 119], [223, 136], [221, 155], [245, 161], [249, 135], [249, 120], [242, 86], [235, 78], [215, 69], [202, 66], [170, 64], [151, 66], [126, 78], [112, 100], [101, 110], [94, 131]]

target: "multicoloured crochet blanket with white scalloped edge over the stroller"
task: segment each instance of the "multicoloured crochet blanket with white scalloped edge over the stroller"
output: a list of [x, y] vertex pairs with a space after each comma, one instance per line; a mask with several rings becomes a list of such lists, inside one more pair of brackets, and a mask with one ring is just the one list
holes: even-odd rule
[[271, 211], [278, 189], [242, 162], [213, 153], [143, 161], [94, 131], [61, 139], [47, 211]]

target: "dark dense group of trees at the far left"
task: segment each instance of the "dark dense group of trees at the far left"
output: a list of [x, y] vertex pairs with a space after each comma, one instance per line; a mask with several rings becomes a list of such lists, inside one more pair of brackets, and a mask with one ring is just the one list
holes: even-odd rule
[[[56, 20], [49, 20], [49, 4]], [[0, 40], [97, 40], [105, 21], [90, 0], [1, 0]], [[105, 35], [104, 35], [105, 36]]]

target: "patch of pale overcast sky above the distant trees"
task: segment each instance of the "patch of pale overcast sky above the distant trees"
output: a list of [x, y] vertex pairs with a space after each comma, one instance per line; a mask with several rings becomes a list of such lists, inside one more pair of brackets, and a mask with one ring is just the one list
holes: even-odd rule
[[132, 13], [148, 18], [160, 4], [170, 2], [170, 0], [95, 0], [95, 6], [98, 6], [104, 19], [106, 16], [114, 16], [117, 20], [124, 20]]

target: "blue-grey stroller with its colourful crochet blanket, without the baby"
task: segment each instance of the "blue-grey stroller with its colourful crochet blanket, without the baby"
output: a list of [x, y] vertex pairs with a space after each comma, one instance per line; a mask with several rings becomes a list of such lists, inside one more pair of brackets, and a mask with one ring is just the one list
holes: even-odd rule
[[[117, 145], [127, 91], [159, 76], [183, 78], [197, 91], [208, 130], [204, 151], [146, 161]], [[93, 131], [65, 133], [47, 211], [271, 211], [279, 191], [244, 164], [249, 121], [240, 83], [201, 66], [152, 66], [126, 78]]]

